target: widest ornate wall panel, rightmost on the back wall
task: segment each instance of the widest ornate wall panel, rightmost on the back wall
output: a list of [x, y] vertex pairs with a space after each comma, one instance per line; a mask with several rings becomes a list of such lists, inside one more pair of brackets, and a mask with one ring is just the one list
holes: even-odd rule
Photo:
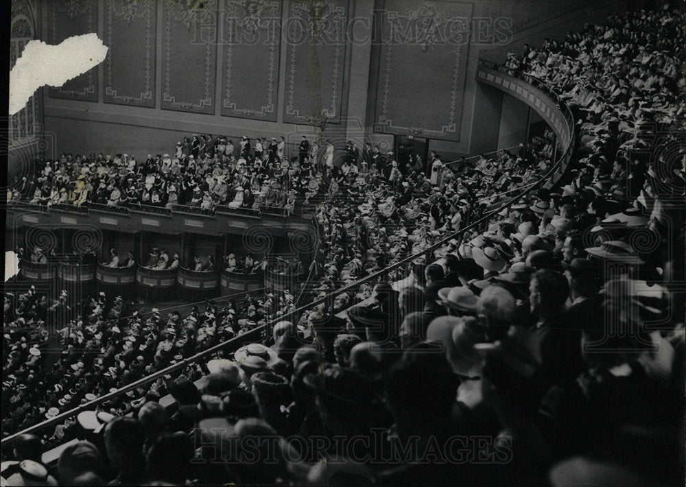
[[386, 2], [376, 132], [460, 139], [471, 14], [471, 3]]

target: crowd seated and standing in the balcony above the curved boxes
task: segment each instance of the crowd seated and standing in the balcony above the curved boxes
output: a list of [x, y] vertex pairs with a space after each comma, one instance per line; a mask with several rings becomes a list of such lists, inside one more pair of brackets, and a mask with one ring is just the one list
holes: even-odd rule
[[[244, 136], [239, 147], [234, 147], [224, 137], [193, 135], [192, 143], [187, 137], [177, 143], [171, 156], [147, 154], [144, 162], [129, 154], [113, 158], [102, 152], [63, 153], [59, 160], [41, 160], [35, 178], [16, 180], [8, 200], [46, 206], [142, 205], [186, 211], [191, 207], [210, 213], [220, 205], [292, 215], [296, 200], [309, 204], [311, 198], [327, 191], [320, 187], [322, 178], [348, 175], [351, 164], [343, 169], [333, 164], [331, 141], [325, 151], [326, 155], [316, 143], [310, 146], [303, 136], [298, 156], [289, 160], [283, 137], [280, 143], [272, 139], [268, 145], [266, 139], [258, 137], [253, 144]], [[377, 154], [375, 161], [385, 163], [387, 157]]]

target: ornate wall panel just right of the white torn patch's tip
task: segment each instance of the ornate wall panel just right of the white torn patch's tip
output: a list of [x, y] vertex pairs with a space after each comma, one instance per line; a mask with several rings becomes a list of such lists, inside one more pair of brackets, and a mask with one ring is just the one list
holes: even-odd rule
[[156, 0], [104, 2], [104, 102], [155, 106]]

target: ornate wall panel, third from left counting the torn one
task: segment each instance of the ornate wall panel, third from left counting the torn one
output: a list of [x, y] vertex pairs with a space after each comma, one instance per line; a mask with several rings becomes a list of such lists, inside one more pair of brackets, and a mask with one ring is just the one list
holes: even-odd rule
[[217, 0], [160, 3], [162, 108], [213, 114], [217, 58]]

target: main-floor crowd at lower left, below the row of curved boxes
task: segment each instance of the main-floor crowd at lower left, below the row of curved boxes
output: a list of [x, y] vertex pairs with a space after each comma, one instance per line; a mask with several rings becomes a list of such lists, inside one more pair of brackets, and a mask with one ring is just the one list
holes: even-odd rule
[[[258, 300], [252, 296], [240, 302], [229, 300], [224, 307], [207, 302], [204, 312], [193, 306], [184, 313], [170, 311], [162, 318], [153, 308], [150, 313], [135, 311], [126, 316], [121, 296], [108, 300], [100, 292], [82, 308], [81, 303], [69, 300], [66, 291], [50, 302], [34, 286], [19, 294], [16, 302], [12, 294], [6, 295], [4, 302], [3, 437], [246, 333], [294, 308], [294, 297], [286, 292], [279, 302], [268, 294]], [[60, 323], [62, 327], [56, 329]], [[57, 344], [52, 341], [51, 329], [56, 329]], [[54, 356], [55, 349], [62, 350], [59, 357]], [[198, 371], [191, 369], [187, 371], [190, 377], [193, 373], [197, 376]], [[158, 390], [164, 390], [163, 381], [121, 396], [110, 403], [108, 413], [126, 414], [132, 402], [143, 397], [159, 399]], [[45, 447], [70, 440], [77, 433], [75, 418], [60, 423], [52, 434], [45, 433]]]

